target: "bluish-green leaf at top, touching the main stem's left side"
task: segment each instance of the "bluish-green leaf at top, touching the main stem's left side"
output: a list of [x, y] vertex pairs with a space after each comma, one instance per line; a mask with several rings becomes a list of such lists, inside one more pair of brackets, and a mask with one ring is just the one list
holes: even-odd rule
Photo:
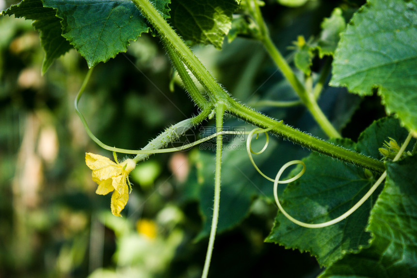
[[[126, 52], [129, 41], [149, 31], [146, 20], [128, 0], [43, 0], [62, 18], [62, 35], [87, 60], [89, 67]], [[167, 18], [167, 1], [156, 1]]]

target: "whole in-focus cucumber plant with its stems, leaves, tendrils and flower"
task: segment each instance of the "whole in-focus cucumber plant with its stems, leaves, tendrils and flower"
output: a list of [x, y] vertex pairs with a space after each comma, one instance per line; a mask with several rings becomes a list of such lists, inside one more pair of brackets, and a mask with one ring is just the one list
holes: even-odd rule
[[[278, 2], [294, 7], [314, 6], [318, 1]], [[257, 170], [251, 177], [266, 179], [259, 183], [259, 190], [267, 192], [264, 194], [267, 199], [273, 197], [278, 207], [267, 242], [310, 252], [326, 267], [320, 274], [323, 278], [415, 277], [417, 1], [335, 4], [330, 15], [322, 20], [318, 35], [307, 39], [299, 35], [287, 57], [274, 44], [270, 31], [274, 27], [273, 16], [263, 14], [273, 5], [276, 3], [259, 0], [23, 0], [2, 11], [2, 15], [33, 20], [46, 53], [43, 73], [71, 48], [85, 58], [90, 70], [75, 100], [75, 108], [91, 139], [114, 154], [115, 162], [90, 153], [85, 160], [98, 184], [96, 193], [113, 191], [111, 207], [115, 216], [121, 216], [128, 202], [131, 190], [128, 174], [135, 164], [150, 154], [184, 150], [215, 138], [214, 157], [208, 153], [200, 155], [199, 159], [205, 163], [197, 175], [203, 181], [194, 190], [204, 216], [199, 237], [209, 236], [202, 277], [208, 277], [210, 261], [216, 253], [216, 232], [240, 223], [250, 210], [253, 196], [259, 195], [252, 187], [248, 188], [252, 181], [222, 183], [229, 171], [234, 170], [227, 160], [238, 152], [228, 147], [239, 144], [233, 140], [226, 142], [225, 135], [246, 135], [246, 143], [240, 143], [246, 146], [248, 154], [246, 162], [240, 165], [245, 169], [241, 176], [248, 173], [246, 169]], [[290, 14], [291, 8], [285, 11]], [[125, 52], [130, 41], [147, 32], [160, 38], [161, 47], [199, 113], [168, 127], [141, 150], [111, 147], [90, 131], [78, 103], [93, 68]], [[236, 37], [261, 44], [284, 77], [285, 85], [290, 87], [293, 98], [260, 99], [246, 105], [241, 102], [244, 100], [237, 99], [239, 91], [228, 92], [191, 50], [191, 46], [198, 44], [222, 49], [225, 37], [229, 44]], [[329, 108], [319, 105], [319, 100], [330, 97], [325, 91], [332, 87], [345, 87], [349, 95], [360, 98], [379, 96], [386, 116], [361, 130], [357, 141], [343, 136], [343, 127], [353, 117], [356, 107], [341, 99], [333, 103], [339, 109], [335, 109], [333, 121], [329, 120]], [[345, 108], [340, 108], [341, 105]], [[256, 109], [294, 106], [308, 111], [309, 119], [320, 129], [317, 134], [324, 139]], [[323, 112], [324, 109], [327, 111]], [[227, 130], [225, 120], [229, 121], [229, 115], [255, 127], [243, 132]], [[195, 130], [213, 117], [215, 131], [211, 135], [181, 147], [167, 148], [187, 131]], [[342, 124], [337, 122], [337, 117]], [[267, 150], [268, 133], [308, 149], [311, 154], [282, 161], [287, 156], [279, 153], [285, 152], [283, 148], [274, 152]], [[264, 135], [267, 139], [259, 152], [252, 149], [254, 135]], [[116, 153], [136, 156], [118, 162]], [[259, 166], [252, 154], [264, 155]], [[275, 169], [278, 173], [272, 178], [270, 173], [262, 171], [268, 164], [264, 163], [265, 156], [274, 158], [274, 165], [285, 163], [281, 169]], [[282, 181], [284, 170], [294, 164], [299, 166]], [[283, 183], [288, 183], [287, 187], [279, 189], [278, 185]], [[208, 190], [207, 186], [212, 189]], [[221, 187], [228, 198], [221, 197]], [[207, 192], [214, 194], [212, 208], [206, 205], [212, 200]]]

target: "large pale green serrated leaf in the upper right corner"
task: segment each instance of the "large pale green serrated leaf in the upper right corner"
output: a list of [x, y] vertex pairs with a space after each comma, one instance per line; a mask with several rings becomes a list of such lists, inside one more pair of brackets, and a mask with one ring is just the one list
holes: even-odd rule
[[359, 95], [378, 87], [386, 111], [416, 131], [416, 41], [416, 0], [369, 0], [341, 35], [331, 85]]

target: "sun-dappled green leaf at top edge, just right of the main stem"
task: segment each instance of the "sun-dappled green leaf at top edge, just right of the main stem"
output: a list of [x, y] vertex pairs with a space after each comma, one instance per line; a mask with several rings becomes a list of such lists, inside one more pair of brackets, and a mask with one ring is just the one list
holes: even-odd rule
[[237, 0], [173, 0], [171, 22], [182, 38], [195, 44], [222, 48], [232, 26]]

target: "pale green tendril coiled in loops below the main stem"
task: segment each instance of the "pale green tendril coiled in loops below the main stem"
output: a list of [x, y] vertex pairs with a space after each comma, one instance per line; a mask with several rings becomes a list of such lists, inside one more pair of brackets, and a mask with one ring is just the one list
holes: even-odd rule
[[[252, 136], [255, 132], [265, 132], [266, 136], [267, 136], [267, 140], [266, 143], [264, 145], [264, 147], [262, 148], [261, 151], [259, 152], [254, 152], [251, 148], [251, 141], [252, 141]], [[259, 134], [259, 133], [258, 133]], [[401, 146], [400, 151], [398, 152], [398, 154], [395, 156], [395, 158], [393, 159], [393, 161], [397, 161], [398, 159], [400, 159], [401, 155], [403, 154], [403, 152], [405, 151], [405, 148], [407, 147], [407, 145], [409, 144], [411, 138], [412, 138], [412, 133], [410, 132], [407, 139], [405, 139], [404, 143]], [[381, 183], [384, 181], [385, 177], [386, 177], [386, 171], [379, 177], [379, 179], [375, 182], [374, 185], [372, 185], [372, 187], [369, 189], [369, 191], [356, 203], [353, 205], [353, 207], [351, 209], [349, 209], [347, 212], [345, 212], [344, 214], [342, 214], [341, 216], [338, 216], [337, 218], [334, 218], [330, 221], [326, 221], [323, 223], [317, 223], [317, 224], [310, 224], [310, 223], [305, 223], [305, 222], [301, 222], [297, 219], [295, 219], [294, 217], [290, 216], [282, 207], [281, 203], [279, 202], [278, 199], [278, 184], [288, 184], [290, 182], [293, 182], [295, 180], [297, 180], [298, 178], [300, 178], [304, 172], [305, 172], [305, 163], [301, 160], [292, 160], [287, 162], [286, 164], [284, 164], [281, 169], [278, 171], [278, 173], [275, 176], [275, 179], [272, 179], [268, 176], [266, 176], [264, 173], [262, 173], [261, 170], [259, 170], [259, 168], [257, 167], [257, 165], [255, 164], [253, 158], [252, 158], [252, 154], [261, 154], [265, 151], [267, 145], [268, 145], [268, 134], [266, 133], [266, 130], [261, 129], [261, 128], [256, 128], [254, 130], [252, 130], [252, 132], [249, 134], [249, 137], [246, 141], [246, 147], [247, 147], [247, 152], [249, 155], [249, 159], [251, 160], [252, 164], [254, 165], [255, 169], [266, 179], [268, 179], [269, 181], [273, 181], [273, 197], [275, 199], [275, 202], [279, 208], [279, 210], [282, 212], [282, 214], [287, 217], [291, 222], [305, 227], [305, 228], [323, 228], [323, 227], [327, 227], [333, 224], [336, 224], [337, 222], [342, 221], [343, 219], [345, 219], [346, 217], [350, 216], [351, 214], [353, 214], [353, 212], [355, 212], [365, 201], [368, 200], [368, 198], [373, 194], [373, 192], [375, 192], [375, 190], [378, 188], [379, 185], [381, 185]], [[281, 178], [281, 175], [283, 174], [283, 172], [291, 165], [294, 164], [301, 164], [303, 166], [303, 169], [294, 177], [288, 179], [288, 180], [284, 180], [284, 181], [280, 181], [279, 179]]]

